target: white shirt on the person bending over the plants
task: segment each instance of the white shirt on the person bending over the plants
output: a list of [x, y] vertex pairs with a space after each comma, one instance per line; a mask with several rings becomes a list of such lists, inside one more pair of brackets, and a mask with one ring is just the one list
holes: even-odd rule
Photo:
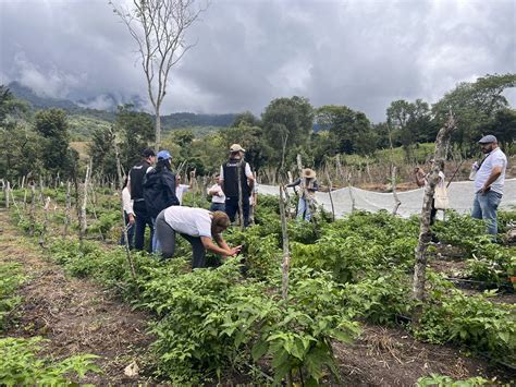
[[170, 206], [164, 209], [164, 221], [177, 232], [211, 238], [211, 215], [208, 209]]

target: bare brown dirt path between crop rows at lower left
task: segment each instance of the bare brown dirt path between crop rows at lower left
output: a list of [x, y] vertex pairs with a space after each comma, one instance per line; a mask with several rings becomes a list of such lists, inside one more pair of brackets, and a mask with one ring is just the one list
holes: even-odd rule
[[19, 262], [30, 277], [21, 288], [23, 303], [16, 324], [5, 336], [49, 339], [46, 352], [56, 359], [78, 353], [99, 355], [102, 375], [83, 382], [96, 385], [150, 382], [127, 377], [124, 368], [145, 365], [152, 338], [146, 334], [148, 317], [132, 311], [88, 280], [67, 278], [61, 268], [45, 259], [35, 243], [21, 235], [0, 210], [0, 264]]

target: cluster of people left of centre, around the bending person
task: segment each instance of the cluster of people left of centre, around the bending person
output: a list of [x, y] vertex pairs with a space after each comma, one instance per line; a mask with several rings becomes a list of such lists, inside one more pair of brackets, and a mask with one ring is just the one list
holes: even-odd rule
[[122, 191], [126, 232], [121, 243], [125, 244], [126, 233], [131, 247], [144, 250], [148, 228], [148, 251], [170, 258], [175, 253], [175, 234], [180, 233], [192, 245], [193, 268], [205, 267], [207, 250], [223, 257], [237, 254], [241, 246], [230, 247], [222, 232], [235, 221], [241, 208], [247, 227], [250, 208], [257, 203], [255, 176], [244, 155], [241, 145], [231, 146], [229, 160], [207, 190], [211, 197], [208, 210], [181, 205], [183, 194], [192, 189], [195, 171], [191, 172], [189, 184], [181, 184], [181, 177], [172, 172], [172, 155], [168, 150], [155, 154], [145, 149], [140, 162], [131, 168]]

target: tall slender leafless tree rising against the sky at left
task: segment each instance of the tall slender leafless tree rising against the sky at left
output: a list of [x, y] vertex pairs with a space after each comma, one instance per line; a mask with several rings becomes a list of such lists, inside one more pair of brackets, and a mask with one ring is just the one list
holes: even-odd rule
[[193, 47], [186, 31], [204, 7], [196, 0], [133, 0], [132, 8], [110, 4], [138, 46], [147, 90], [156, 114], [156, 152], [161, 143], [160, 108], [167, 95], [170, 70]]

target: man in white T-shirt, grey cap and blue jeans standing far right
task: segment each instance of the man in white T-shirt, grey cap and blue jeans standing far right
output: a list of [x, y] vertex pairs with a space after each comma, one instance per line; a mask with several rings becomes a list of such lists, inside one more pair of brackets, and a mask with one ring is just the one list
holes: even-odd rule
[[475, 176], [475, 201], [471, 217], [483, 219], [488, 225], [488, 233], [496, 238], [496, 209], [502, 201], [505, 182], [507, 157], [499, 148], [497, 140], [492, 134], [483, 136], [479, 144], [486, 158], [477, 167]]

